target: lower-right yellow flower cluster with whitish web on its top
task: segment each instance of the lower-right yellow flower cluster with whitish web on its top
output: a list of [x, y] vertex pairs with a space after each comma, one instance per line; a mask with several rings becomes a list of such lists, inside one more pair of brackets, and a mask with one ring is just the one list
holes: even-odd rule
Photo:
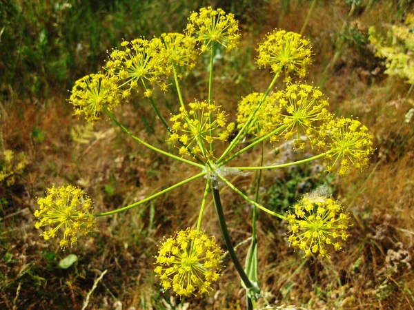
[[294, 213], [288, 214], [288, 240], [305, 252], [304, 258], [313, 254], [330, 258], [329, 248], [342, 249], [340, 240], [349, 236], [344, 232], [349, 217], [335, 200], [306, 195], [293, 209]]

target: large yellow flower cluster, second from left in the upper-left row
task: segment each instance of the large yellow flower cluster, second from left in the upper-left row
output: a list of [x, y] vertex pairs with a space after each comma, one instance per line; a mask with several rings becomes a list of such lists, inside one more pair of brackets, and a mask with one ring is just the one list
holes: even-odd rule
[[[130, 90], [137, 90], [139, 83], [159, 85], [161, 90], [167, 90], [167, 85], [161, 78], [164, 74], [165, 54], [161, 53], [163, 43], [161, 39], [146, 40], [139, 38], [130, 42], [123, 41], [124, 50], [112, 50], [105, 69], [110, 76], [117, 76], [122, 85], [128, 85], [123, 96], [128, 97]], [[147, 85], [145, 86], [147, 87]], [[147, 91], [147, 90], [146, 90]], [[149, 93], [145, 94], [149, 97]]]

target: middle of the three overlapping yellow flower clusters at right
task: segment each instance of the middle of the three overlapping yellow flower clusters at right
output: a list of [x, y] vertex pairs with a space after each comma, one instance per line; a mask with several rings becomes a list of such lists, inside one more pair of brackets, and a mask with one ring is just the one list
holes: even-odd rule
[[333, 116], [326, 110], [329, 103], [322, 98], [322, 92], [311, 85], [290, 84], [286, 90], [280, 90], [274, 96], [283, 108], [285, 139], [295, 136], [295, 148], [304, 149], [301, 134], [306, 134], [311, 145], [323, 146], [324, 142], [318, 139], [319, 126], [331, 121]]

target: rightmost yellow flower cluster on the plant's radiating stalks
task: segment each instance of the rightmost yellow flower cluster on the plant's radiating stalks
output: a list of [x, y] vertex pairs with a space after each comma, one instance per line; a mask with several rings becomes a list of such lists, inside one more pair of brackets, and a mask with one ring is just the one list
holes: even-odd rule
[[326, 134], [331, 142], [327, 143], [334, 152], [327, 154], [325, 162], [331, 172], [336, 163], [340, 163], [339, 174], [344, 175], [352, 167], [362, 169], [368, 166], [373, 154], [373, 138], [368, 129], [351, 118], [337, 118], [326, 124]]

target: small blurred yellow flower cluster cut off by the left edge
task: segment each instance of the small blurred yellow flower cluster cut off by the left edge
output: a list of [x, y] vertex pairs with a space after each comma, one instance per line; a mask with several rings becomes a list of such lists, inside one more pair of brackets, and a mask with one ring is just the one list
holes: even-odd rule
[[6, 180], [6, 186], [10, 186], [16, 180], [15, 175], [21, 174], [29, 162], [23, 152], [14, 156], [11, 149], [6, 149], [3, 155], [3, 162], [0, 163], [0, 182]]

